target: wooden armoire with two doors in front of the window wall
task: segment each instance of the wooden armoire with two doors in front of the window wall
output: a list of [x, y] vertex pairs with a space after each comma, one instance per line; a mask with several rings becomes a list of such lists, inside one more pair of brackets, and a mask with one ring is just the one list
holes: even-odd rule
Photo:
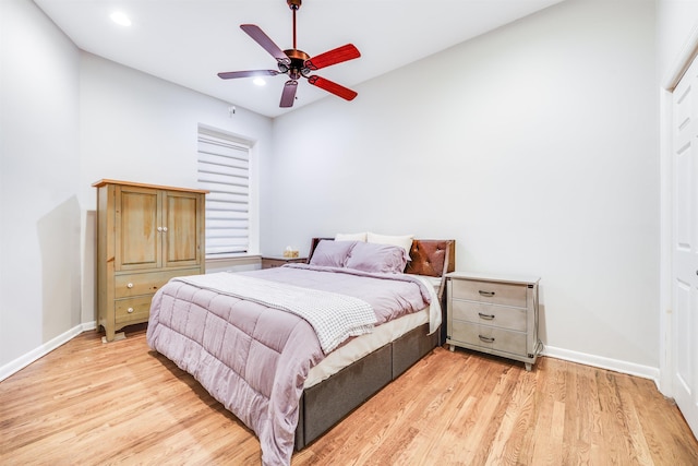
[[205, 273], [205, 194], [115, 180], [97, 188], [97, 327], [105, 340], [147, 322], [170, 278]]

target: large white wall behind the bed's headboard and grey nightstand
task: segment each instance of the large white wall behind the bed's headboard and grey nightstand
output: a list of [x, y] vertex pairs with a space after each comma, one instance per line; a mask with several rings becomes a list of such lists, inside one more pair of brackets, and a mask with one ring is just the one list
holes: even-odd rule
[[278, 118], [264, 251], [455, 238], [457, 268], [542, 277], [551, 354], [654, 377], [654, 8], [568, 0]]

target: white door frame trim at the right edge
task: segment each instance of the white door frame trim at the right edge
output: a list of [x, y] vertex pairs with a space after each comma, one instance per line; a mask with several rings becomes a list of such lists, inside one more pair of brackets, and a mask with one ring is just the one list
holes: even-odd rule
[[684, 47], [664, 76], [660, 88], [660, 358], [657, 381], [659, 391], [674, 397], [673, 387], [673, 287], [672, 287], [672, 237], [673, 237], [673, 164], [672, 164], [672, 97], [673, 92], [690, 63], [698, 57], [698, 23], [686, 39]]

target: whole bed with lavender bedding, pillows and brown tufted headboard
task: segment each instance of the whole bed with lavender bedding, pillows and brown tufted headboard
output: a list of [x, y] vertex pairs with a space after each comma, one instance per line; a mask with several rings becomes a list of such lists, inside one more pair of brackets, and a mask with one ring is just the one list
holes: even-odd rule
[[[373, 262], [369, 270], [338, 266], [333, 261], [347, 244], [345, 262], [378, 251], [382, 267], [405, 273], [372, 270]], [[293, 450], [443, 344], [444, 275], [455, 268], [455, 241], [416, 239], [409, 254], [364, 244], [313, 238], [306, 264], [178, 277], [153, 298], [151, 348], [255, 432], [265, 465], [290, 464]], [[294, 308], [300, 301], [303, 309]], [[336, 322], [345, 319], [349, 330]]]

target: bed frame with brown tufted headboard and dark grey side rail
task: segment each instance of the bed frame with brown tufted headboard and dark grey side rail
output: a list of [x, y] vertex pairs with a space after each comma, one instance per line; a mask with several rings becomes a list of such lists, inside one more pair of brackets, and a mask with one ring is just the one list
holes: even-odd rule
[[[332, 238], [313, 238], [309, 261], [317, 243]], [[446, 279], [455, 270], [455, 240], [416, 239], [410, 250], [411, 261], [405, 273], [441, 277], [438, 299], [445, 313]], [[446, 322], [446, 316], [443, 316]], [[421, 325], [398, 339], [366, 355], [330, 378], [306, 389], [300, 399], [296, 450], [301, 450], [329, 430], [345, 416], [402, 372], [445, 342], [445, 325], [441, 332], [428, 335], [429, 324]]]

